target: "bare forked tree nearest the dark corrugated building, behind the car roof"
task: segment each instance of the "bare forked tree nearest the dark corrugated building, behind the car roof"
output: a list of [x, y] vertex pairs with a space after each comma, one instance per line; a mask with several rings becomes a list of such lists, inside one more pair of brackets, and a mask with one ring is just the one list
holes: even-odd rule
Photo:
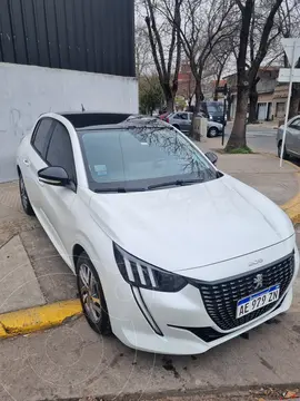
[[[162, 1], [162, 0], [161, 0]], [[167, 110], [173, 111], [174, 97], [178, 90], [178, 75], [181, 61], [181, 27], [182, 0], [168, 0], [172, 26], [160, 12], [160, 0], [142, 0], [146, 10], [146, 25], [159, 81], [166, 98]], [[167, 51], [164, 49], [168, 49]]]

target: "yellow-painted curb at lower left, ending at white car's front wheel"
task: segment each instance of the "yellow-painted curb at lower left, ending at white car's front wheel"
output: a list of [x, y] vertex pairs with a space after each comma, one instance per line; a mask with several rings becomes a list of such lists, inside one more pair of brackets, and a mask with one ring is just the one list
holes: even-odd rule
[[81, 314], [79, 300], [4, 313], [0, 315], [0, 339], [50, 329]]

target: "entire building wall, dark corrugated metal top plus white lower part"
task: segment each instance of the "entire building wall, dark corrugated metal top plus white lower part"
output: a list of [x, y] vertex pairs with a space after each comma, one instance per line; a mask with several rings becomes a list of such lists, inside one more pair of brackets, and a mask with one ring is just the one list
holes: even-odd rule
[[133, 0], [0, 0], [0, 182], [47, 111], [138, 113]]

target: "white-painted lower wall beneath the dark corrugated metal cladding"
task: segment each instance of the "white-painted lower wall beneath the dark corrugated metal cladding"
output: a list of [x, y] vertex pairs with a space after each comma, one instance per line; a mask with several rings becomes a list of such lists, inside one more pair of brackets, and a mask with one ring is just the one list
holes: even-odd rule
[[136, 78], [0, 63], [0, 182], [17, 178], [21, 138], [47, 111], [138, 113]]

